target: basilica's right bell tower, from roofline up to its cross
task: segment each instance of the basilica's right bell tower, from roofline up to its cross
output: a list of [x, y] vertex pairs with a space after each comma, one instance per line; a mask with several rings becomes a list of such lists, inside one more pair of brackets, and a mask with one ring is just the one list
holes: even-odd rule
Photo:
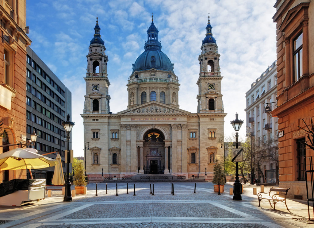
[[206, 37], [202, 41], [201, 54], [198, 56], [199, 77], [198, 85], [198, 113], [224, 113], [221, 94], [221, 77], [219, 67], [218, 46], [212, 34], [209, 21], [206, 26]]

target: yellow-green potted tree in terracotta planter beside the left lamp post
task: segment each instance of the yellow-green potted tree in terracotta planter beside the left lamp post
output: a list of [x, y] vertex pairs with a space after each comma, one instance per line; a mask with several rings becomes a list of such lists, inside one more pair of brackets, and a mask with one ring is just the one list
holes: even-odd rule
[[73, 159], [72, 164], [73, 169], [73, 183], [75, 185], [76, 194], [84, 194], [84, 187], [87, 182], [85, 180], [85, 169], [83, 160], [78, 160], [77, 158]]

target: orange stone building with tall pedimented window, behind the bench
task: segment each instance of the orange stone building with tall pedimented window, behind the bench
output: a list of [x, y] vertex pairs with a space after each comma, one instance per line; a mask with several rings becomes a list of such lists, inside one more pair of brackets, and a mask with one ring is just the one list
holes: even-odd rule
[[314, 3], [278, 0], [277, 23], [279, 187], [290, 187], [288, 197], [306, 198], [305, 170], [313, 156], [303, 143], [305, 127], [314, 116]]

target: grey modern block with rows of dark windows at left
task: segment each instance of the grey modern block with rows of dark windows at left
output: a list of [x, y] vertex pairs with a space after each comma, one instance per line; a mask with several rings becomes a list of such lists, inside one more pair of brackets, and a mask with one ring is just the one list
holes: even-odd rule
[[[39, 154], [56, 158], [61, 155], [65, 172], [64, 151], [66, 150], [65, 131], [62, 121], [71, 116], [71, 92], [46, 66], [46, 64], [27, 47], [26, 56], [26, 133], [35, 131], [37, 141], [35, 149]], [[32, 170], [34, 178], [51, 182], [54, 167]]]

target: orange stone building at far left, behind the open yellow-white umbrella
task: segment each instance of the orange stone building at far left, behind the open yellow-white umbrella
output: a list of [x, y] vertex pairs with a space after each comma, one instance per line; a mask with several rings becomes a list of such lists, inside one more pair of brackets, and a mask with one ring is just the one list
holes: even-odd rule
[[[26, 143], [26, 35], [25, 0], [0, 1], [0, 153]], [[5, 146], [15, 144], [11, 146]], [[26, 170], [0, 170], [0, 183], [26, 178]]]

